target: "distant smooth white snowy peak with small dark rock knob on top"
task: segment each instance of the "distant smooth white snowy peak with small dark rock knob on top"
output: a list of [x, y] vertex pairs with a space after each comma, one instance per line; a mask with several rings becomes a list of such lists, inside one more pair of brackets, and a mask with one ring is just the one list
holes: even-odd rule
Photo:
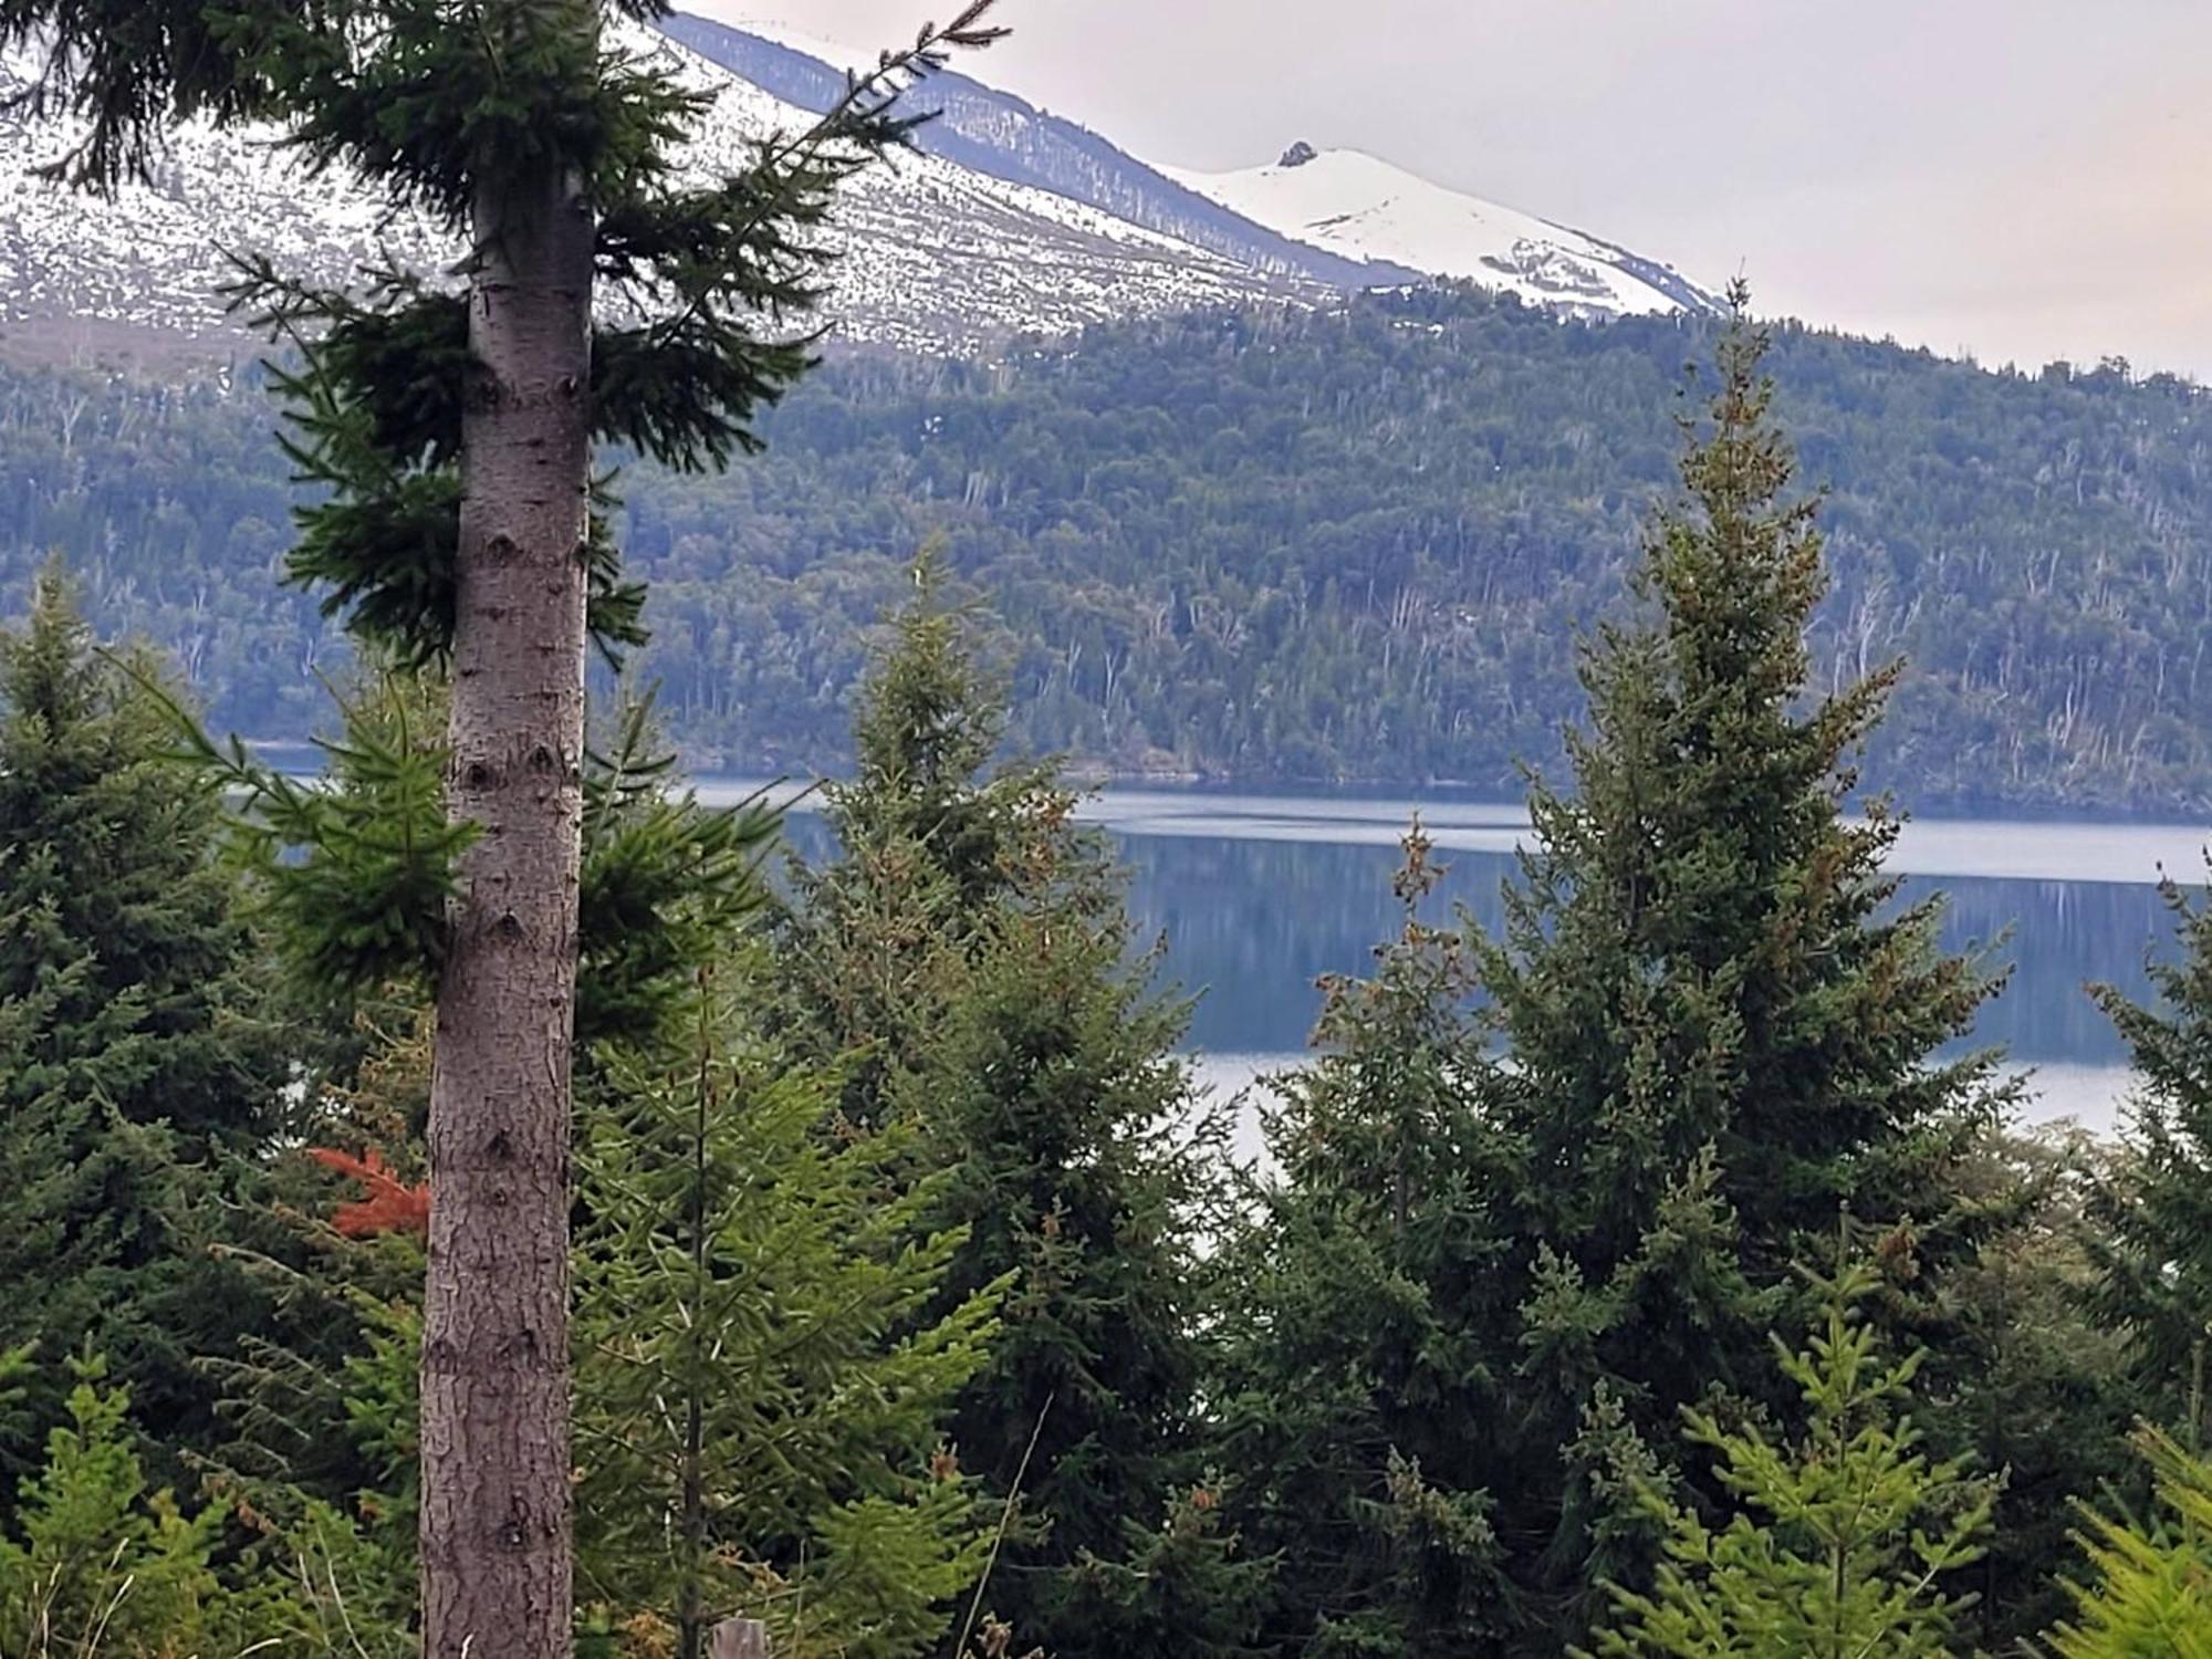
[[1294, 144], [1274, 166], [1161, 170], [1232, 212], [1347, 259], [1462, 276], [1579, 316], [1719, 310], [1672, 265], [1447, 190], [1365, 150]]

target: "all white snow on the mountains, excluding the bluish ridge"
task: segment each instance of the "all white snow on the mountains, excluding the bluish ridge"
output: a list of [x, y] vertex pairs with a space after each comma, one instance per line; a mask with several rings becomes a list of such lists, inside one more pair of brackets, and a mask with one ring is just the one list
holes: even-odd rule
[[[830, 64], [876, 60], [876, 49], [823, 44], [781, 24], [745, 27]], [[655, 33], [633, 29], [626, 44], [666, 53], [684, 80], [717, 91], [690, 148], [695, 177], [741, 168], [759, 139], [814, 119]], [[84, 128], [9, 106], [35, 64], [29, 51], [0, 55], [0, 330], [97, 321], [170, 336], [226, 332], [217, 299], [232, 276], [226, 250], [270, 254], [319, 285], [352, 283], [365, 263], [445, 270], [460, 254], [445, 228], [387, 212], [372, 188], [310, 179], [265, 128], [192, 124], [173, 137], [150, 181], [119, 186], [113, 199], [46, 184], [35, 166]], [[1679, 310], [1646, 281], [1666, 283], [1663, 268], [1358, 150], [1296, 168], [1161, 173], [1294, 239], [1385, 263], [1391, 281], [1407, 270], [1469, 276], [1577, 316]], [[867, 168], [841, 197], [823, 243], [838, 254], [823, 312], [838, 334], [925, 352], [1217, 303], [1332, 299], [1303, 274], [938, 155]], [[1688, 285], [1681, 292], [1697, 299]]]

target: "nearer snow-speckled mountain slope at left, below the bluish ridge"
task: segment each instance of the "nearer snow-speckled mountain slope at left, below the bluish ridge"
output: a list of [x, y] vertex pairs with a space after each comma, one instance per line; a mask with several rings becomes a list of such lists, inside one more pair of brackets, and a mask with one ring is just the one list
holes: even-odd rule
[[[807, 111], [675, 46], [679, 73], [719, 88], [695, 161], [737, 166]], [[51, 186], [33, 170], [80, 126], [9, 108], [35, 62], [0, 58], [0, 327], [18, 341], [64, 321], [223, 334], [217, 285], [226, 248], [254, 248], [323, 283], [365, 261], [416, 270], [453, 261], [458, 243], [416, 217], [385, 217], [343, 179], [310, 181], [265, 131], [175, 137], [148, 184], [111, 201]], [[1033, 184], [991, 177], [940, 155], [867, 170], [825, 243], [845, 254], [830, 314], [845, 338], [914, 349], [967, 349], [1009, 332], [1064, 332], [1230, 299], [1310, 296], [1303, 270], [1263, 268], [1119, 219]]]

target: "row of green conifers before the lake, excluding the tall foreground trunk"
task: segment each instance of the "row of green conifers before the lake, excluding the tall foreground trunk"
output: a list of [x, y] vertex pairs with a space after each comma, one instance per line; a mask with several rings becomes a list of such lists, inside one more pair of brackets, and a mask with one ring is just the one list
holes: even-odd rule
[[[1938, 1057], [2002, 982], [1849, 810], [1896, 677], [1820, 679], [1761, 345], [1500, 920], [1436, 914], [1413, 825], [1263, 1170], [933, 553], [823, 856], [772, 874], [772, 814], [611, 723], [577, 1652], [2212, 1646], [2212, 911], [2104, 1000], [2126, 1144], [2020, 1139], [2002, 1057]], [[53, 566], [0, 637], [0, 1652], [407, 1655], [445, 690], [356, 686], [303, 790], [179, 763], [159, 681]]]

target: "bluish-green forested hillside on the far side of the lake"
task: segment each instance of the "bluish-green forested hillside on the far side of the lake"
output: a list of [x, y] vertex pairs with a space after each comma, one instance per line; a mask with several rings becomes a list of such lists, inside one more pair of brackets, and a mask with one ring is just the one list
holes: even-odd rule
[[[1506, 785], [1557, 754], [1568, 641], [1621, 604], [1708, 327], [1413, 292], [975, 363], [849, 356], [765, 422], [761, 460], [626, 480], [639, 668], [699, 763], [836, 765], [865, 633], [947, 531], [1009, 633], [1024, 745]], [[1805, 330], [1772, 367], [1832, 487], [1818, 677], [1911, 657], [1878, 781], [1922, 805], [2212, 799], [2199, 389]], [[343, 646], [272, 580], [288, 487], [237, 380], [0, 369], [0, 577], [13, 599], [62, 549], [100, 624], [173, 648], [217, 723], [288, 737]]]

